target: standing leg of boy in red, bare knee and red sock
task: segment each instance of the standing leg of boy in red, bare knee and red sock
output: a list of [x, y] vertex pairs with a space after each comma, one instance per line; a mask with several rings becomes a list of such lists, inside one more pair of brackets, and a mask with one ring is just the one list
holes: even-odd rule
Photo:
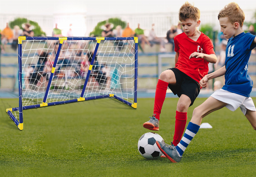
[[191, 99], [186, 95], [181, 95], [177, 103], [177, 110], [175, 116], [175, 132], [173, 136], [173, 145], [177, 146], [183, 135], [187, 120], [187, 110], [191, 104]]

